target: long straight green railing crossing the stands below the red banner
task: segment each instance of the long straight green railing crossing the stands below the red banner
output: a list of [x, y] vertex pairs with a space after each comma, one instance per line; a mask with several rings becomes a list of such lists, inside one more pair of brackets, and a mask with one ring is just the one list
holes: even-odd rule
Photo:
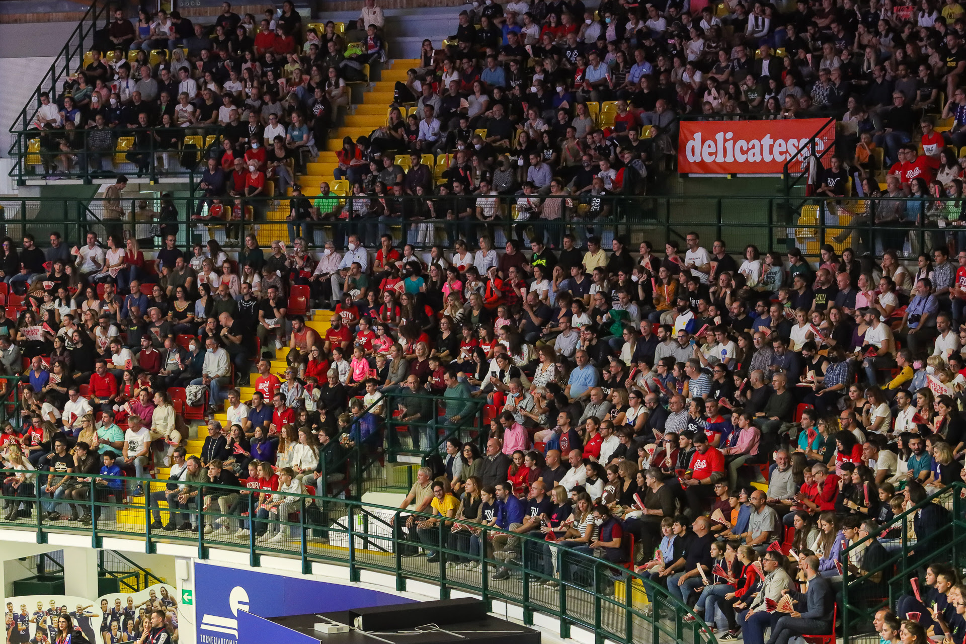
[[[103, 239], [108, 230], [106, 224], [115, 233], [123, 227], [136, 238], [151, 240], [152, 224], [157, 223], [157, 214], [161, 210], [163, 187], [157, 186], [155, 193], [139, 192], [126, 197], [121, 207], [128, 212], [127, 218], [116, 222], [103, 221], [104, 200], [100, 198], [0, 200], [3, 209], [0, 235], [17, 238], [28, 227], [33, 232], [46, 228], [59, 231], [70, 245], [81, 245], [90, 231]], [[315, 196], [311, 196], [315, 192], [306, 188], [310, 196], [305, 199], [309, 205], [315, 201]], [[606, 248], [610, 247], [611, 238], [619, 235], [630, 244], [628, 249], [632, 252], [637, 250], [640, 241], [647, 239], [658, 253], [663, 251], [667, 241], [683, 242], [689, 232], [696, 231], [705, 246], [710, 246], [712, 239], [725, 240], [736, 258], [744, 255], [747, 244], [754, 244], [762, 253], [781, 253], [798, 247], [810, 257], [818, 256], [822, 243], [832, 243], [838, 250], [852, 246], [857, 252], [895, 248], [900, 254], [906, 246], [909, 257], [915, 257], [920, 249], [951, 240], [957, 248], [966, 247], [966, 228], [959, 225], [963, 222], [949, 219], [949, 213], [952, 211], [957, 215], [964, 202], [947, 198], [607, 195], [601, 199], [603, 214], [594, 216], [594, 212], [588, 210], [591, 204], [586, 195], [538, 197], [544, 208], [549, 200], [562, 200], [561, 217], [552, 220], [536, 213], [521, 219], [516, 195], [495, 198], [497, 218], [492, 221], [480, 221], [475, 218], [475, 213], [472, 218], [469, 214], [464, 217], [456, 214], [456, 211], [467, 214], [474, 210], [476, 197], [434, 197], [429, 200], [410, 196], [384, 197], [383, 202], [378, 202], [367, 195], [341, 198], [344, 204], [339, 209], [345, 210], [348, 218], [332, 215], [296, 223], [310, 246], [320, 246], [326, 239], [334, 239], [338, 248], [342, 247], [347, 234], [359, 235], [363, 244], [375, 247], [382, 230], [392, 232], [397, 241], [412, 242], [417, 248], [435, 244], [449, 247], [456, 238], [474, 239], [479, 235], [496, 238], [497, 245], [504, 238], [539, 236], [560, 248], [563, 235], [573, 233], [579, 241], [589, 235], [600, 236]], [[147, 210], [138, 209], [141, 201], [147, 201]], [[224, 196], [221, 201], [230, 208], [235, 199]], [[437, 209], [435, 218], [424, 208], [430, 201]], [[193, 242], [206, 242], [209, 238], [216, 238], [224, 244], [226, 239], [240, 239], [249, 232], [256, 234], [263, 247], [272, 239], [289, 238], [289, 222], [285, 217], [291, 212], [290, 198], [254, 197], [241, 199], [241, 202], [244, 216], [250, 220], [192, 221], [190, 216], [195, 212], [209, 212], [210, 200], [204, 200], [200, 192], [191, 196], [174, 193], [171, 204], [177, 215], [166, 223], [178, 225], [178, 244], [183, 248], [189, 248]], [[364, 202], [361, 205], [370, 210], [366, 213], [355, 210], [357, 202]], [[388, 214], [381, 215], [384, 210], [379, 209], [383, 203], [389, 210], [386, 210]], [[450, 210], [454, 211], [453, 215], [447, 216], [446, 211]], [[877, 220], [887, 212], [890, 212], [888, 216], [896, 218]], [[835, 239], [839, 234], [847, 237], [841, 243]], [[160, 239], [155, 238], [154, 242], [159, 244]]]

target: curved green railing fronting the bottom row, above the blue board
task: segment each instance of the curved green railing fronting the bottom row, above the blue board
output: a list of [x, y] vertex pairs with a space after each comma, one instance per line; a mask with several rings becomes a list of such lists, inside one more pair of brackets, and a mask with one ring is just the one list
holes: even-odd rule
[[[22, 473], [22, 470], [0, 470], [5, 478]], [[398, 591], [405, 591], [407, 581], [412, 579], [439, 585], [440, 599], [448, 598], [452, 590], [460, 590], [486, 601], [511, 602], [523, 607], [526, 624], [533, 624], [535, 613], [544, 613], [559, 622], [562, 637], [568, 637], [571, 627], [577, 626], [592, 630], [601, 644], [605, 640], [624, 644], [715, 642], [713, 632], [705, 629], [699, 620], [684, 619], [692, 611], [670, 596], [667, 588], [592, 553], [556, 546], [528, 534], [515, 535], [491, 527], [481, 533], [483, 543], [489, 543], [494, 537], [519, 536], [521, 539], [521, 561], [510, 564], [510, 572], [515, 576], [497, 581], [490, 573], [504, 563], [493, 558], [488, 548], [470, 553], [469, 548], [459, 544], [450, 546], [443, 522], [423, 532], [427, 540], [423, 547], [440, 553], [438, 563], [405, 556], [412, 554], [416, 544], [406, 538], [400, 526], [407, 516], [416, 522], [432, 518], [425, 513], [338, 498], [286, 494], [291, 499], [287, 516], [263, 518], [259, 515], [259, 501], [252, 493], [257, 490], [188, 484], [186, 490], [206, 500], [186, 510], [185, 520], [195, 525], [227, 524], [230, 533], [235, 532], [237, 525], [254, 527], [239, 538], [223, 532], [206, 534], [204, 529], [197, 533], [163, 531], [151, 527], [151, 498], [154, 492], [165, 489], [166, 482], [109, 476], [73, 478], [76, 485], [88, 490], [86, 500], [73, 503], [91, 513], [90, 525], [43, 519], [42, 481], [20, 495], [2, 497], [5, 504], [7, 501], [17, 504], [18, 516], [13, 520], [0, 519], [0, 530], [31, 530], [38, 543], [46, 543], [50, 533], [82, 534], [90, 537], [92, 547], [100, 547], [105, 537], [128, 537], [143, 541], [146, 552], [155, 552], [158, 542], [188, 544], [197, 546], [198, 557], [202, 559], [208, 557], [210, 548], [228, 548], [247, 552], [252, 566], [260, 565], [262, 555], [288, 556], [298, 559], [301, 571], [306, 574], [311, 572], [314, 563], [346, 566], [354, 581], [359, 580], [362, 571], [376, 571], [391, 574]], [[128, 489], [140, 484], [146, 493], [143, 499], [146, 504], [119, 503], [113, 496], [104, 496], [101, 492], [114, 482]], [[123, 499], [123, 491], [118, 493]], [[226, 495], [222, 497], [224, 501], [213, 498], [222, 494]], [[155, 502], [154, 506], [162, 522], [169, 518], [166, 503]], [[255, 520], [248, 522], [252, 517]], [[256, 531], [263, 525], [286, 537], [281, 542], [258, 542]], [[447, 565], [457, 559], [473, 562], [475, 570]], [[551, 588], [535, 583], [551, 580], [559, 585]]]

